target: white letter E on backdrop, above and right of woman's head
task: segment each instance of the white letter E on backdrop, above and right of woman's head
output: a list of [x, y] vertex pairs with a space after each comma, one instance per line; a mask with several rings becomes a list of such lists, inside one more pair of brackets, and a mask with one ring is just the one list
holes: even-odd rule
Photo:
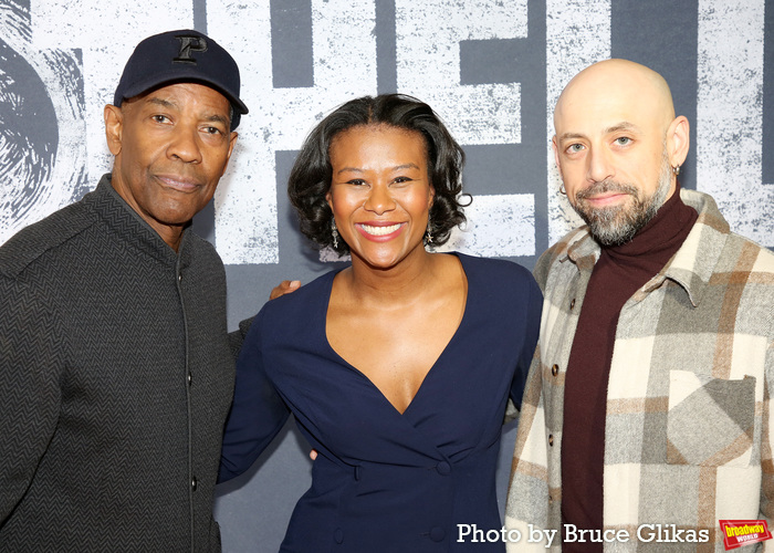
[[[525, 38], [526, 0], [396, 0], [395, 6], [398, 90], [430, 104], [462, 146], [521, 143], [520, 84], [461, 85], [459, 43]], [[466, 215], [468, 228], [454, 232], [446, 250], [535, 253], [533, 195], [477, 195]]]

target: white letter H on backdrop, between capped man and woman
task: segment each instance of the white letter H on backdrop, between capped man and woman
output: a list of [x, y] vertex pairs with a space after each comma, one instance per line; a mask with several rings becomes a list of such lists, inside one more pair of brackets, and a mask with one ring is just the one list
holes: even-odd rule
[[[376, 93], [370, 0], [312, 0], [314, 86], [274, 88], [269, 2], [208, 2], [208, 30], [233, 52], [250, 114], [216, 192], [216, 244], [224, 263], [278, 263], [275, 152], [300, 149], [325, 114]], [[240, 24], [234, 24], [240, 22]], [[284, 194], [284, 192], [283, 192]]]

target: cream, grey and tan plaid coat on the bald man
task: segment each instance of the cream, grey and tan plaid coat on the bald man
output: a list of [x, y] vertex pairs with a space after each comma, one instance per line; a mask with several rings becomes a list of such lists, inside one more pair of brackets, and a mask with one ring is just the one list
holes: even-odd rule
[[[626, 534], [608, 532], [605, 552], [721, 552], [719, 520], [767, 519], [771, 528], [774, 517], [774, 254], [730, 232], [711, 197], [680, 195], [699, 219], [674, 257], [626, 302], [616, 331], [604, 525]], [[505, 513], [506, 526], [522, 535], [516, 542], [511, 534], [509, 552], [546, 551], [538, 530], [561, 525], [565, 371], [598, 257], [582, 227], [535, 268], [545, 299]], [[680, 541], [691, 538], [699, 543]], [[744, 549], [755, 547], [763, 544]]]

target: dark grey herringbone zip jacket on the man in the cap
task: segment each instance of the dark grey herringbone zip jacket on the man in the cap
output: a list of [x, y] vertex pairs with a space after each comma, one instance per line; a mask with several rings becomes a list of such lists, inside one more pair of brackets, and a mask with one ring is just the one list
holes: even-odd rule
[[226, 275], [113, 190], [0, 248], [0, 551], [220, 551]]

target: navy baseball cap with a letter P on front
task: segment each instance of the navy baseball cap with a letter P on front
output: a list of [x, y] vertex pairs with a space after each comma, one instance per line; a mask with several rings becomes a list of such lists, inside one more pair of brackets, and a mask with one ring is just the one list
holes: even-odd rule
[[231, 103], [231, 129], [248, 106], [239, 100], [239, 67], [231, 55], [209, 36], [184, 29], [148, 36], [137, 44], [118, 81], [113, 104], [161, 85], [200, 83], [220, 92]]

